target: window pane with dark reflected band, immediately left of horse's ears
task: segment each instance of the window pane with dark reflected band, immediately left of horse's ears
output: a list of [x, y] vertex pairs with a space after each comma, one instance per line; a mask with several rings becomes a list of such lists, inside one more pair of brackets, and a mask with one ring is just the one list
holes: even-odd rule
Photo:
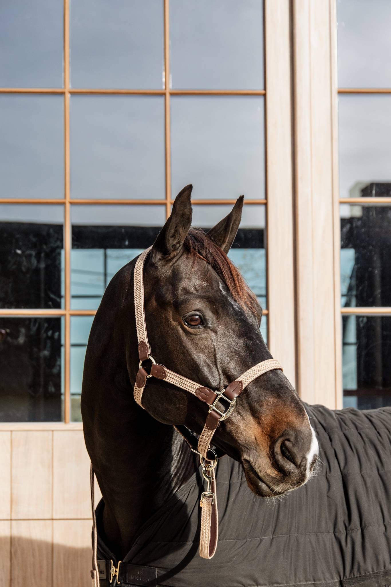
[[165, 206], [73, 205], [71, 308], [96, 309], [113, 275], [153, 244]]

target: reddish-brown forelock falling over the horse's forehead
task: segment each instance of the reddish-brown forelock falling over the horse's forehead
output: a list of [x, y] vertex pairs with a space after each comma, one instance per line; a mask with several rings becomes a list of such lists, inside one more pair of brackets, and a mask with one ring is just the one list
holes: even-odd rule
[[240, 275], [239, 269], [227, 257], [225, 252], [216, 245], [200, 228], [191, 228], [183, 243], [194, 261], [202, 259], [212, 267], [226, 284], [233, 299], [239, 303], [244, 311], [261, 316], [260, 305], [256, 296]]

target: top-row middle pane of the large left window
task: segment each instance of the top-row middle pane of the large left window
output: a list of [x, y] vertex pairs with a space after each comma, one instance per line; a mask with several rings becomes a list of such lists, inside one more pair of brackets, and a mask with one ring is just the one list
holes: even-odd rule
[[70, 10], [73, 87], [164, 87], [163, 0], [77, 0]]

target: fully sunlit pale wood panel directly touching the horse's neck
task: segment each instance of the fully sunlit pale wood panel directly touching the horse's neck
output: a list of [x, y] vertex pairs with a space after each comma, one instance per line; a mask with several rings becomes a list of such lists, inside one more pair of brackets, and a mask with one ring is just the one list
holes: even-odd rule
[[[96, 483], [96, 504], [100, 498]], [[81, 430], [53, 432], [53, 518], [91, 518], [90, 459]]]

